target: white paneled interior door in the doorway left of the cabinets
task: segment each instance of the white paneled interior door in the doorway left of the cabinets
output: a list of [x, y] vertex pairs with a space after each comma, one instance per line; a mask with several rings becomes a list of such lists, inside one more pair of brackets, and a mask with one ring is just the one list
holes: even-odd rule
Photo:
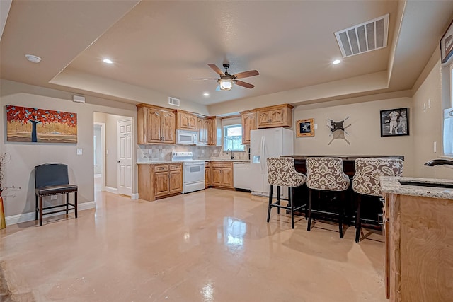
[[117, 122], [118, 141], [118, 194], [132, 196], [132, 119]]

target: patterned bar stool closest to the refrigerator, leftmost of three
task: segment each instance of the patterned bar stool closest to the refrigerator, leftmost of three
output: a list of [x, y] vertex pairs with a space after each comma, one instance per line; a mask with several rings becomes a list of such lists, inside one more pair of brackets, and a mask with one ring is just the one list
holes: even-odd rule
[[[294, 211], [306, 207], [306, 204], [294, 207], [292, 195], [294, 187], [304, 185], [306, 176], [296, 171], [294, 168], [294, 158], [292, 157], [269, 157], [266, 159], [268, 164], [268, 182], [269, 182], [269, 205], [268, 205], [268, 222], [270, 219], [270, 209], [277, 208], [277, 214], [280, 214], [280, 208], [291, 211], [291, 227], [294, 228]], [[273, 186], [277, 186], [277, 201], [273, 203]], [[289, 187], [288, 204], [280, 204], [280, 187]]]

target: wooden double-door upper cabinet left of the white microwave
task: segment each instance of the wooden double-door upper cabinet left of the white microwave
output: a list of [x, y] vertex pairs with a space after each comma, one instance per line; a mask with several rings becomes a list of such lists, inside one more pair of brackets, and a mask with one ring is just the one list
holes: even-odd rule
[[137, 144], [175, 144], [175, 114], [166, 108], [138, 104]]

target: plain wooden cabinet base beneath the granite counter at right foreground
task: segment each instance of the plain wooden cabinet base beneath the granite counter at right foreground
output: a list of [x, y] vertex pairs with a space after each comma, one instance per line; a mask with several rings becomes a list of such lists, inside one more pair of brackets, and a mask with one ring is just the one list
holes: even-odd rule
[[453, 200], [384, 193], [390, 301], [453, 301]]

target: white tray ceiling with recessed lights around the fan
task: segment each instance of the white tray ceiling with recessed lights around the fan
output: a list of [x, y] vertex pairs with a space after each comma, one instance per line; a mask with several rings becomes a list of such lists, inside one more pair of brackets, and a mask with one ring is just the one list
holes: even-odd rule
[[[331, 64], [342, 59], [334, 32], [386, 13], [388, 47]], [[152, 103], [147, 92], [217, 105], [293, 90], [312, 102], [404, 91], [452, 18], [453, 1], [436, 0], [13, 0], [0, 76], [130, 103]], [[42, 62], [28, 62], [25, 54]], [[230, 74], [258, 70], [241, 79], [255, 88], [216, 91], [214, 80], [190, 80], [217, 78], [207, 64], [226, 62]]]

